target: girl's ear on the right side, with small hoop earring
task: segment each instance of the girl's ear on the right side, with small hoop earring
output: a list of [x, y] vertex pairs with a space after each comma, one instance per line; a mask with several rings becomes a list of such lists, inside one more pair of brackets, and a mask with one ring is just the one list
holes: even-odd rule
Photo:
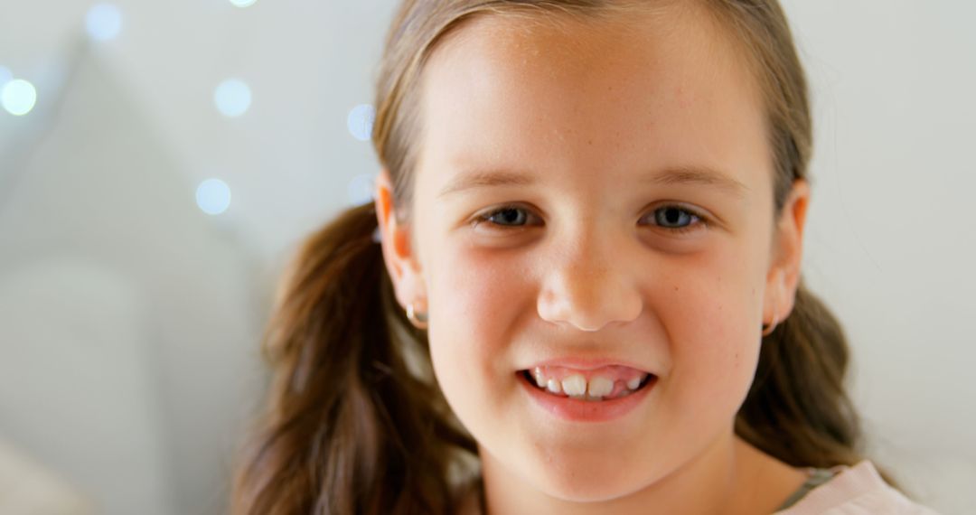
[[776, 317], [777, 323], [782, 323], [793, 312], [809, 203], [809, 184], [802, 178], [794, 180], [773, 234], [772, 259], [766, 274], [766, 295], [763, 299], [763, 323], [773, 317]]

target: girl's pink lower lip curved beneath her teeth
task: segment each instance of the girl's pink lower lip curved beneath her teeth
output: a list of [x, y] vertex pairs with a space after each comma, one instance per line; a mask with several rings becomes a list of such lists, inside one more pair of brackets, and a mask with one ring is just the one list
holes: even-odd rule
[[515, 376], [522, 383], [529, 397], [532, 397], [540, 407], [554, 416], [572, 422], [605, 422], [625, 416], [647, 397], [658, 382], [658, 378], [654, 376], [642, 388], [626, 397], [607, 401], [584, 401], [549, 394], [529, 382], [521, 372]]

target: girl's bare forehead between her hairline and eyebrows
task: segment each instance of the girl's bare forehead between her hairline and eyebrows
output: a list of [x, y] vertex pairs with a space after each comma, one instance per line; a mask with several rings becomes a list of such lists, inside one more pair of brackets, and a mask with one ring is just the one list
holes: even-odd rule
[[602, 171], [595, 179], [703, 167], [747, 183], [769, 174], [749, 67], [691, 9], [470, 20], [428, 60], [421, 112], [427, 182], [470, 168]]

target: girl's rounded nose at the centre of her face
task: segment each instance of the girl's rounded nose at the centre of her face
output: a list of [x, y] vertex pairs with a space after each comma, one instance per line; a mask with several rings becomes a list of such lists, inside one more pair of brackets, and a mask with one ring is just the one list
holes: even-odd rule
[[637, 318], [643, 301], [635, 274], [620, 253], [592, 238], [571, 247], [555, 253], [559, 257], [544, 273], [539, 316], [588, 332]]

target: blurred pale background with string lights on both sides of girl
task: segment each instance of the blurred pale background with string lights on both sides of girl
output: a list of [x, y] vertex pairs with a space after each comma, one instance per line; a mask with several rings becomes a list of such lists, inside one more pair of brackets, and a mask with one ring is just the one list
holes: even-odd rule
[[[804, 270], [871, 451], [976, 512], [976, 4], [784, 5], [817, 127]], [[226, 509], [278, 274], [370, 199], [394, 6], [0, 0], [0, 513]]]

